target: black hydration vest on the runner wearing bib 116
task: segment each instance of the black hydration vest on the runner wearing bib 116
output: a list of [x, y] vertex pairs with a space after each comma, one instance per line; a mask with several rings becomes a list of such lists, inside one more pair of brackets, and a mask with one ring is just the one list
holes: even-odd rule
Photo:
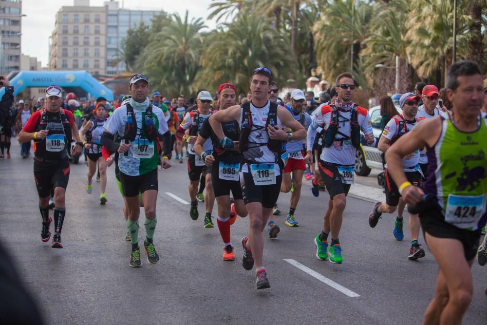
[[[248, 137], [252, 131], [258, 131], [265, 129], [267, 132], [267, 126], [275, 126], [277, 125], [277, 109], [278, 106], [276, 103], [270, 102], [269, 104], [269, 113], [267, 115], [267, 120], [265, 121], [265, 126], [262, 128], [261, 126], [256, 126], [256, 130], [252, 130], [252, 112], [250, 110], [250, 102], [244, 103], [240, 105], [242, 107], [242, 124], [241, 124], [241, 132], [240, 132], [240, 141], [239, 141], [239, 150], [241, 153], [248, 150]], [[268, 135], [268, 134], [267, 134]], [[265, 146], [265, 143], [256, 143], [255, 147]], [[267, 141], [267, 147], [270, 151], [281, 154], [282, 152], [282, 140], [275, 140], [269, 137]]]

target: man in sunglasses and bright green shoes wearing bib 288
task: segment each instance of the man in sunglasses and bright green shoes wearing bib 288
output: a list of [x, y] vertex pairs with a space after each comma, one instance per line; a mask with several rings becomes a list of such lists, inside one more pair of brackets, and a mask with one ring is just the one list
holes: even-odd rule
[[337, 100], [330, 105], [320, 106], [318, 112], [312, 116], [307, 136], [308, 151], [305, 162], [311, 163], [311, 150], [317, 133], [326, 134], [322, 139], [323, 151], [319, 156], [318, 168], [330, 193], [330, 200], [324, 215], [323, 229], [315, 238], [315, 246], [316, 257], [320, 260], [328, 259], [328, 234], [331, 230], [329, 254], [332, 263], [343, 262], [338, 235], [346, 196], [354, 183], [355, 152], [360, 146], [360, 130], [367, 143], [375, 144], [369, 112], [352, 100], [354, 89], [354, 76], [349, 72], [340, 74], [335, 82]]

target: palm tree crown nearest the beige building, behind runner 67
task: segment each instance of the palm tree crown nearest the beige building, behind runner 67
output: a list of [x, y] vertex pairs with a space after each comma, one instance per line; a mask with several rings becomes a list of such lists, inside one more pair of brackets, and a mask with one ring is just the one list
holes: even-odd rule
[[188, 21], [178, 14], [172, 15], [172, 22], [163, 27], [145, 48], [139, 64], [143, 70], [169, 95], [191, 94], [193, 80], [199, 70], [200, 53], [203, 50], [205, 28], [201, 18]]

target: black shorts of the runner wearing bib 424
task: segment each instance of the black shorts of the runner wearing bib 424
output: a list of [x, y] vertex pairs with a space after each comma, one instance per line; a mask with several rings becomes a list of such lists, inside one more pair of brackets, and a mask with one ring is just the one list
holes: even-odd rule
[[[439, 207], [433, 210], [419, 213], [421, 228], [437, 238], [451, 238], [459, 240], [464, 249], [465, 258], [470, 261], [475, 258], [479, 247], [481, 230], [475, 231], [460, 229], [445, 221], [445, 216]], [[425, 237], [426, 240], [426, 237]], [[427, 243], [428, 244], [428, 243]]]

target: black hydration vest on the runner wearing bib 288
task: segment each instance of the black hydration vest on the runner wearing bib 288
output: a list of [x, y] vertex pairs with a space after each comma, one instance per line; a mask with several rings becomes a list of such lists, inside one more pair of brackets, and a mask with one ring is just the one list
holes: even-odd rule
[[[326, 132], [323, 134], [323, 139], [321, 140], [323, 147], [326, 148], [331, 147], [333, 145], [333, 142], [335, 141], [340, 141], [341, 144], [343, 145], [343, 141], [345, 140], [351, 140], [352, 146], [354, 146], [357, 149], [360, 147], [360, 125], [358, 124], [357, 107], [358, 105], [354, 104], [354, 107], [351, 110], [350, 119], [348, 119], [340, 115], [335, 105], [333, 104], [330, 105], [332, 116], [330, 118], [330, 125], [326, 129]], [[338, 123], [342, 122], [339, 121], [340, 116], [342, 118], [345, 118], [347, 121], [350, 121], [350, 136], [338, 131], [339, 129]], [[341, 135], [341, 137], [337, 138], [337, 134]]]

